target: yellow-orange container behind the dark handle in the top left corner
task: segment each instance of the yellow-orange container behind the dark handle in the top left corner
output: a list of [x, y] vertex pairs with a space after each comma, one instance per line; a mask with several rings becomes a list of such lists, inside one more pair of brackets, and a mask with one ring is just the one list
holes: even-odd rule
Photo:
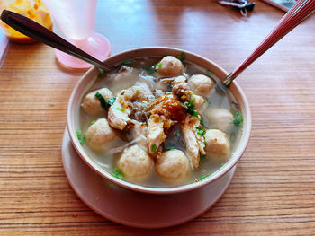
[[[30, 18], [31, 20], [40, 23], [49, 30], [52, 28], [52, 22], [49, 12], [41, 0], [0, 0], [0, 11], [9, 10], [14, 13], [20, 13]], [[4, 34], [16, 42], [29, 43], [34, 42], [22, 33], [15, 31], [13, 28], [0, 21], [0, 25]]]

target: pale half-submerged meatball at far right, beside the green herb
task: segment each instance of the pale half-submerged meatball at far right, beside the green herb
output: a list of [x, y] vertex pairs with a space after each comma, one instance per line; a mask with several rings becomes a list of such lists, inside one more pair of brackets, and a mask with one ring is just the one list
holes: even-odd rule
[[205, 116], [213, 128], [219, 128], [221, 131], [227, 132], [232, 127], [233, 114], [228, 109], [207, 109]]

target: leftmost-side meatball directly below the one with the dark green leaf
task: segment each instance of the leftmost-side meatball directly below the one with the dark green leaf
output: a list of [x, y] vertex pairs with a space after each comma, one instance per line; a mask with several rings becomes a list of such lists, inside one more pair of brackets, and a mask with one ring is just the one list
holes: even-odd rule
[[86, 144], [94, 150], [102, 150], [103, 145], [111, 142], [116, 134], [112, 127], [108, 125], [106, 118], [99, 118], [88, 127], [86, 132]]

